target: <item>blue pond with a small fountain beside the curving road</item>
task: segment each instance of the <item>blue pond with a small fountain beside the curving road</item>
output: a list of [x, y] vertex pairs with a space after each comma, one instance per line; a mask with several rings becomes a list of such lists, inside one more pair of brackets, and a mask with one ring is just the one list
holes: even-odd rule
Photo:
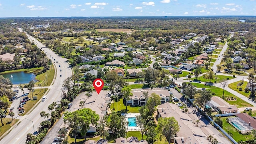
[[36, 75], [34, 73], [11, 72], [0, 75], [4, 78], [9, 78], [12, 84], [28, 84], [31, 80], [36, 81]]

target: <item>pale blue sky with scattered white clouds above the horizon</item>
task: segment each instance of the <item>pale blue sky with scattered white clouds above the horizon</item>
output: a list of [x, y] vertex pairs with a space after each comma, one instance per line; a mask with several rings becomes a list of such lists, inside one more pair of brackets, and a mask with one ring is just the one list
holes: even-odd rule
[[0, 18], [256, 16], [256, 0], [0, 0]]

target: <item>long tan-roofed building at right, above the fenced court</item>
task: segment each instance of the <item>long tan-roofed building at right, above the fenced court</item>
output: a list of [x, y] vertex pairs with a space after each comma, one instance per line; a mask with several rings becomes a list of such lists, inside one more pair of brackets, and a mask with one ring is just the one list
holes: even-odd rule
[[238, 112], [238, 108], [236, 106], [229, 104], [218, 96], [212, 96], [210, 103], [215, 106], [217, 110], [220, 110], [222, 114]]

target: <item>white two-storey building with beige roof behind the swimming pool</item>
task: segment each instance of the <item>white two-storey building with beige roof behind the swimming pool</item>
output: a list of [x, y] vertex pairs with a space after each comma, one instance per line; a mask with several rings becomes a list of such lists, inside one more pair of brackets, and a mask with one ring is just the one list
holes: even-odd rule
[[133, 89], [132, 90], [132, 97], [130, 100], [128, 100], [128, 104], [132, 105], [132, 106], [141, 106], [146, 104], [146, 99], [143, 96], [143, 92], [148, 92], [148, 96], [150, 96], [150, 94], [152, 93], [156, 93], [160, 96], [161, 98], [161, 103], [166, 103], [166, 102], [170, 102], [170, 93], [168, 90], [163, 90], [161, 88], [156, 88], [154, 90], [151, 90], [150, 88], [148, 89]]

